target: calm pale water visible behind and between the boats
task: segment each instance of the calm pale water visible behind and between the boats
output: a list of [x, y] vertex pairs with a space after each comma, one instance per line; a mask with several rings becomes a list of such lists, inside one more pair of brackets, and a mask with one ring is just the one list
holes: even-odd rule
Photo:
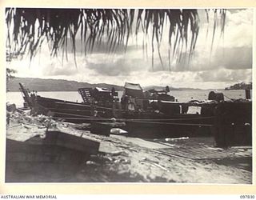
[[[205, 100], [208, 98], [208, 94], [211, 90], [174, 90], [170, 94], [178, 99], [178, 102], [188, 102], [192, 99]], [[245, 90], [218, 90], [225, 95], [225, 100], [228, 98], [245, 98]], [[82, 102], [82, 97], [77, 91], [72, 92], [38, 92], [42, 97], [58, 98], [72, 102]], [[122, 96], [122, 92], [118, 92], [118, 96]], [[20, 92], [8, 92], [6, 94], [6, 102], [15, 103], [16, 106], [21, 107], [23, 105], [23, 98]]]

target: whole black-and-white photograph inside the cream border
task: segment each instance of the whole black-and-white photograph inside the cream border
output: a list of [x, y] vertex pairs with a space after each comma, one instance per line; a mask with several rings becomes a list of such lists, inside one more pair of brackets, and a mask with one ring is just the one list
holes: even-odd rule
[[254, 9], [4, 20], [6, 183], [253, 184]]

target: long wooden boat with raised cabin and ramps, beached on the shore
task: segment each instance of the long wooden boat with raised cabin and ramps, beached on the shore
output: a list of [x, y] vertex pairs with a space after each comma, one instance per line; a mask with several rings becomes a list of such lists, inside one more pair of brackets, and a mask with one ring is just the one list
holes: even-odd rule
[[[126, 82], [121, 101], [117, 92], [101, 88], [79, 88], [83, 102], [41, 97], [22, 84], [24, 100], [35, 114], [50, 115], [66, 122], [126, 122], [130, 136], [154, 138], [210, 134], [214, 123], [215, 101], [175, 102], [167, 91], [146, 91], [139, 84]], [[142, 134], [144, 133], [144, 134]]]

